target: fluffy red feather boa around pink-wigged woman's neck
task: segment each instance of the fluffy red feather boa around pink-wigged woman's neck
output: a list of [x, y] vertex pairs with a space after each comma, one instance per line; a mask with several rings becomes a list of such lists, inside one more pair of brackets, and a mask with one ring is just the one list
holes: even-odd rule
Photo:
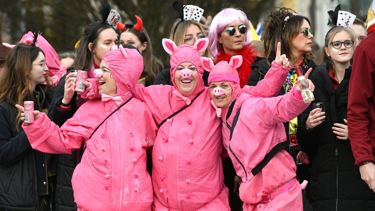
[[249, 76], [251, 74], [250, 66], [254, 63], [256, 57], [258, 56], [257, 50], [254, 46], [243, 47], [238, 54], [226, 54], [223, 50], [219, 50], [219, 54], [215, 59], [215, 64], [221, 61], [226, 61], [229, 63], [232, 56], [241, 55], [242, 56], [242, 65], [237, 69], [238, 75], [240, 77], [240, 86], [244, 87], [248, 84]]

